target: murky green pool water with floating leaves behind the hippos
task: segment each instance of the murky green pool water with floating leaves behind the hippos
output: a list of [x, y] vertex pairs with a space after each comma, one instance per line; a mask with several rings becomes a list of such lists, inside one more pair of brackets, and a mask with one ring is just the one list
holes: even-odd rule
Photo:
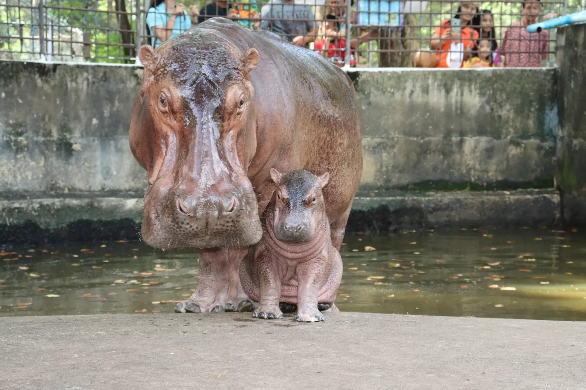
[[[135, 241], [15, 252], [0, 253], [0, 316], [171, 313], [196, 285], [195, 250]], [[580, 232], [355, 235], [341, 253], [340, 310], [586, 320]]]

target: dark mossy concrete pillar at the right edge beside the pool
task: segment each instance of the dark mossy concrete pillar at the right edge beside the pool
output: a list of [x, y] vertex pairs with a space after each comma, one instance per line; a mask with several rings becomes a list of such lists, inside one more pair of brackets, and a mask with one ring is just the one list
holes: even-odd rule
[[557, 33], [560, 127], [557, 181], [564, 197], [563, 218], [586, 223], [586, 25]]

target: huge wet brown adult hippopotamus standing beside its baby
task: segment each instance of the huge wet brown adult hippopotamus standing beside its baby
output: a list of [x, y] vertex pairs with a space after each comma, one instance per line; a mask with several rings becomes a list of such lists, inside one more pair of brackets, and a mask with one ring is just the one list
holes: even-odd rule
[[262, 236], [272, 167], [329, 172], [323, 198], [339, 249], [362, 173], [356, 96], [342, 70], [223, 18], [142, 46], [139, 58], [130, 147], [148, 172], [142, 238], [199, 249], [196, 292], [176, 312], [253, 309], [239, 267]]

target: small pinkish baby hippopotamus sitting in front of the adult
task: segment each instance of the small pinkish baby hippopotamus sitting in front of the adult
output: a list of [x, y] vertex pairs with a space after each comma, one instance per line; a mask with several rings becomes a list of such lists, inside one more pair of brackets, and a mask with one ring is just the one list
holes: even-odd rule
[[323, 321], [318, 302], [337, 311], [333, 302], [342, 280], [342, 257], [332, 246], [322, 196], [329, 174], [271, 168], [271, 178], [277, 189], [261, 219], [263, 238], [240, 265], [242, 287], [259, 302], [253, 317], [282, 318], [280, 302], [286, 302], [297, 303], [296, 320]]

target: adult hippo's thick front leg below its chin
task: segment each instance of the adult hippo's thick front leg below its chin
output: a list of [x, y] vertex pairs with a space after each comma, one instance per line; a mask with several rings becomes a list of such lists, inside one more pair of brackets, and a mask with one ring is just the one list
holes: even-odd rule
[[177, 313], [250, 312], [253, 303], [242, 289], [240, 263], [248, 247], [199, 250], [196, 292], [175, 306]]

